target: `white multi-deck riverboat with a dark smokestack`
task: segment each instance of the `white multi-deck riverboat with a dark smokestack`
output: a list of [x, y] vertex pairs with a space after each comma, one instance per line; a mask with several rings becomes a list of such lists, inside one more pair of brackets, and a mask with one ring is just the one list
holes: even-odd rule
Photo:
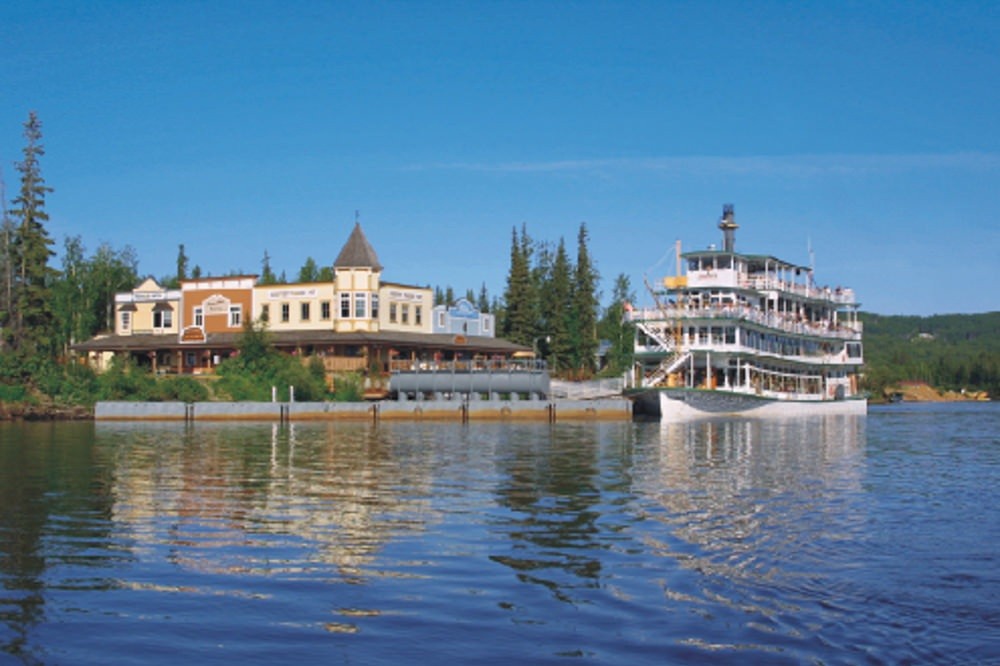
[[[678, 274], [631, 309], [637, 413], [863, 414], [859, 304], [851, 289], [819, 287], [812, 267], [735, 250], [733, 207], [722, 249], [680, 253]], [[686, 266], [686, 274], [681, 266]]]

